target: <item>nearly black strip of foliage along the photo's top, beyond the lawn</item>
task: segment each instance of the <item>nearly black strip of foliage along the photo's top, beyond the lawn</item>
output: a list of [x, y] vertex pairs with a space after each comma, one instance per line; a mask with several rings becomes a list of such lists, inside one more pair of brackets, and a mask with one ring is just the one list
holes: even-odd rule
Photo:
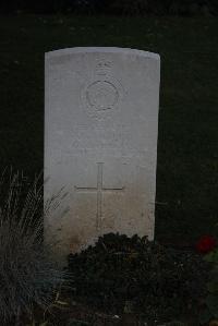
[[217, 14], [216, 0], [2, 0], [3, 12], [35, 13], [104, 13], [104, 14]]

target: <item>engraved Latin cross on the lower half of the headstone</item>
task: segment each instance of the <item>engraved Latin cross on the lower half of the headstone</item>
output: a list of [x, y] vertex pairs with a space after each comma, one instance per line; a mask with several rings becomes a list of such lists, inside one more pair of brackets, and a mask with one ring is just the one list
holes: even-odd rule
[[104, 192], [112, 192], [112, 191], [124, 191], [124, 186], [122, 188], [105, 188], [102, 186], [102, 167], [104, 162], [98, 162], [98, 171], [97, 171], [97, 186], [76, 186], [75, 190], [78, 192], [96, 192], [97, 194], [97, 207], [96, 207], [96, 229], [99, 231], [101, 221], [104, 219], [102, 216], [102, 193]]

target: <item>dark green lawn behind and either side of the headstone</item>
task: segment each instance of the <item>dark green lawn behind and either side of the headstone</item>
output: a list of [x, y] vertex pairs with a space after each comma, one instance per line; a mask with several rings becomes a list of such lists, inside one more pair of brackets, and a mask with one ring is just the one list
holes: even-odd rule
[[44, 53], [76, 46], [161, 56], [156, 237], [214, 233], [218, 191], [218, 20], [16, 15], [0, 19], [0, 168], [43, 168]]

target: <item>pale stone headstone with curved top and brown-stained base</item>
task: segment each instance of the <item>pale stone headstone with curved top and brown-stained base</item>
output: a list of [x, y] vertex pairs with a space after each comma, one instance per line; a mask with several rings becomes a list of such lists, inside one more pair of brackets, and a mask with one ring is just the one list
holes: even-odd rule
[[154, 238], [159, 77], [142, 50], [46, 53], [45, 200], [68, 192], [45, 220], [57, 256], [108, 232]]

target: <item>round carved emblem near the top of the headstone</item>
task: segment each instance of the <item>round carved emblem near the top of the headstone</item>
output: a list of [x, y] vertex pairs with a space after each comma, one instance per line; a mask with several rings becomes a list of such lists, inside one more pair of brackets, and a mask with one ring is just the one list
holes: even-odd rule
[[88, 86], [86, 98], [96, 110], [109, 110], [118, 102], [119, 92], [109, 81], [96, 81]]

